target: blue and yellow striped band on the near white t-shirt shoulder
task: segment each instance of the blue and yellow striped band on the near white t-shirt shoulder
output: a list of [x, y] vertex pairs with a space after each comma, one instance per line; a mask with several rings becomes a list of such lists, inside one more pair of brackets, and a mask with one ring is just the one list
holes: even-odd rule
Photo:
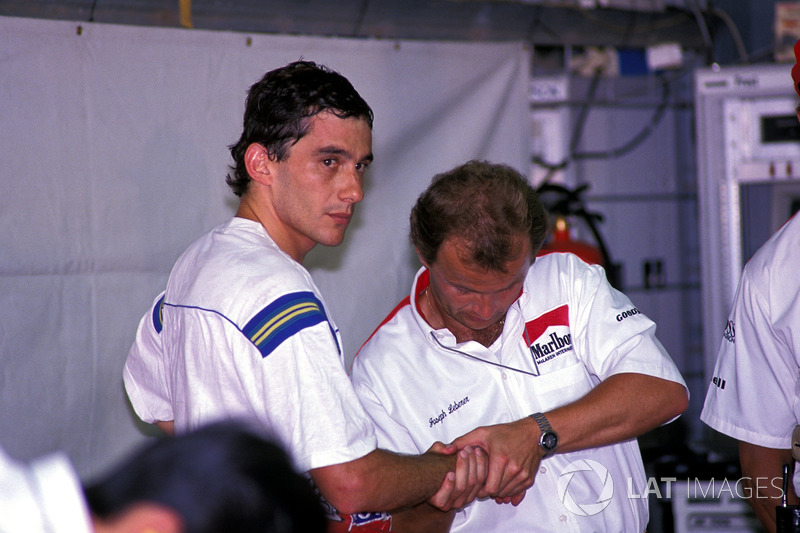
[[242, 332], [266, 357], [295, 333], [327, 320], [322, 302], [314, 293], [293, 292], [259, 311]]

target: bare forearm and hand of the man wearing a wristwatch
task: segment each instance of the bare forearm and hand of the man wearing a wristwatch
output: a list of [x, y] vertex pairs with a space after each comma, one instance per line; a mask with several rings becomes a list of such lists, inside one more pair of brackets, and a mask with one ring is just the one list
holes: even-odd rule
[[[636, 437], [681, 414], [688, 406], [680, 383], [636, 373], [616, 374], [586, 396], [546, 413], [558, 434], [558, 452], [604, 446]], [[477, 428], [459, 437], [489, 452], [489, 475], [481, 496], [507, 499], [527, 490], [542, 459], [540, 430], [530, 417]]]

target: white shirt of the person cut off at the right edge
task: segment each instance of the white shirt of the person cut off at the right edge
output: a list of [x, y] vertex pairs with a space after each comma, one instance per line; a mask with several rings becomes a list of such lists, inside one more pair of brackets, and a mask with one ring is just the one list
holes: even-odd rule
[[737, 440], [791, 448], [800, 423], [800, 216], [745, 265], [722, 337], [700, 419]]

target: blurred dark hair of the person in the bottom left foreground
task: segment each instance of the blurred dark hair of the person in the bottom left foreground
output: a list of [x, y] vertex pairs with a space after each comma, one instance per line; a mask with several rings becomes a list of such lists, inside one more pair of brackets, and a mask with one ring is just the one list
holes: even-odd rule
[[85, 494], [103, 519], [134, 503], [164, 505], [181, 516], [184, 533], [325, 531], [310, 480], [295, 472], [281, 447], [234, 422], [159, 439]]

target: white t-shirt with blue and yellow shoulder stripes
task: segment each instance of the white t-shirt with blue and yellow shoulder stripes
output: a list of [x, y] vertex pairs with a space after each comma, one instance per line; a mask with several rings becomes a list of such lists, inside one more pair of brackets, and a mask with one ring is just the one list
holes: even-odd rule
[[143, 420], [174, 420], [178, 433], [255, 421], [300, 471], [376, 448], [319, 290], [260, 224], [233, 218], [192, 244], [167, 283], [160, 334], [157, 315], [142, 319], [124, 370]]

